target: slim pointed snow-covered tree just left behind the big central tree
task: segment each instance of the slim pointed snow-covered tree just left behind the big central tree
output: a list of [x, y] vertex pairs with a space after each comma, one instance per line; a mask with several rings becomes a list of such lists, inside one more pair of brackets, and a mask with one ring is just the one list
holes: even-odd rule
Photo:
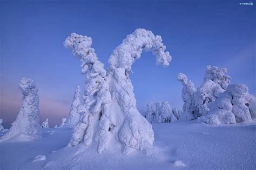
[[79, 122], [80, 114], [77, 111], [77, 107], [80, 104], [80, 86], [77, 86], [70, 108], [69, 117], [66, 119], [66, 123], [64, 124], [63, 128], [73, 128], [73, 126]]

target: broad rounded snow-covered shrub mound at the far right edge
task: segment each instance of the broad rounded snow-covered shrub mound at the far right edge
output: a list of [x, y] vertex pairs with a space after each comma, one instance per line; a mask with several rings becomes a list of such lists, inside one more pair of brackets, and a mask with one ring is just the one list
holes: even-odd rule
[[212, 125], [252, 121], [251, 103], [251, 95], [245, 85], [230, 84], [211, 105], [208, 114], [200, 119]]

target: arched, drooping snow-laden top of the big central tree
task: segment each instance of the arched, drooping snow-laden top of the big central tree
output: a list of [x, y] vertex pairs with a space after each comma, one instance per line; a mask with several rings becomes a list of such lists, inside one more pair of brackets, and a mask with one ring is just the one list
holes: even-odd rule
[[172, 58], [162, 43], [161, 36], [154, 36], [151, 31], [145, 29], [136, 29], [129, 34], [110, 56], [110, 69], [124, 68], [126, 73], [132, 70], [132, 64], [140, 58], [143, 51], [151, 51], [156, 55], [156, 64], [169, 66]]

